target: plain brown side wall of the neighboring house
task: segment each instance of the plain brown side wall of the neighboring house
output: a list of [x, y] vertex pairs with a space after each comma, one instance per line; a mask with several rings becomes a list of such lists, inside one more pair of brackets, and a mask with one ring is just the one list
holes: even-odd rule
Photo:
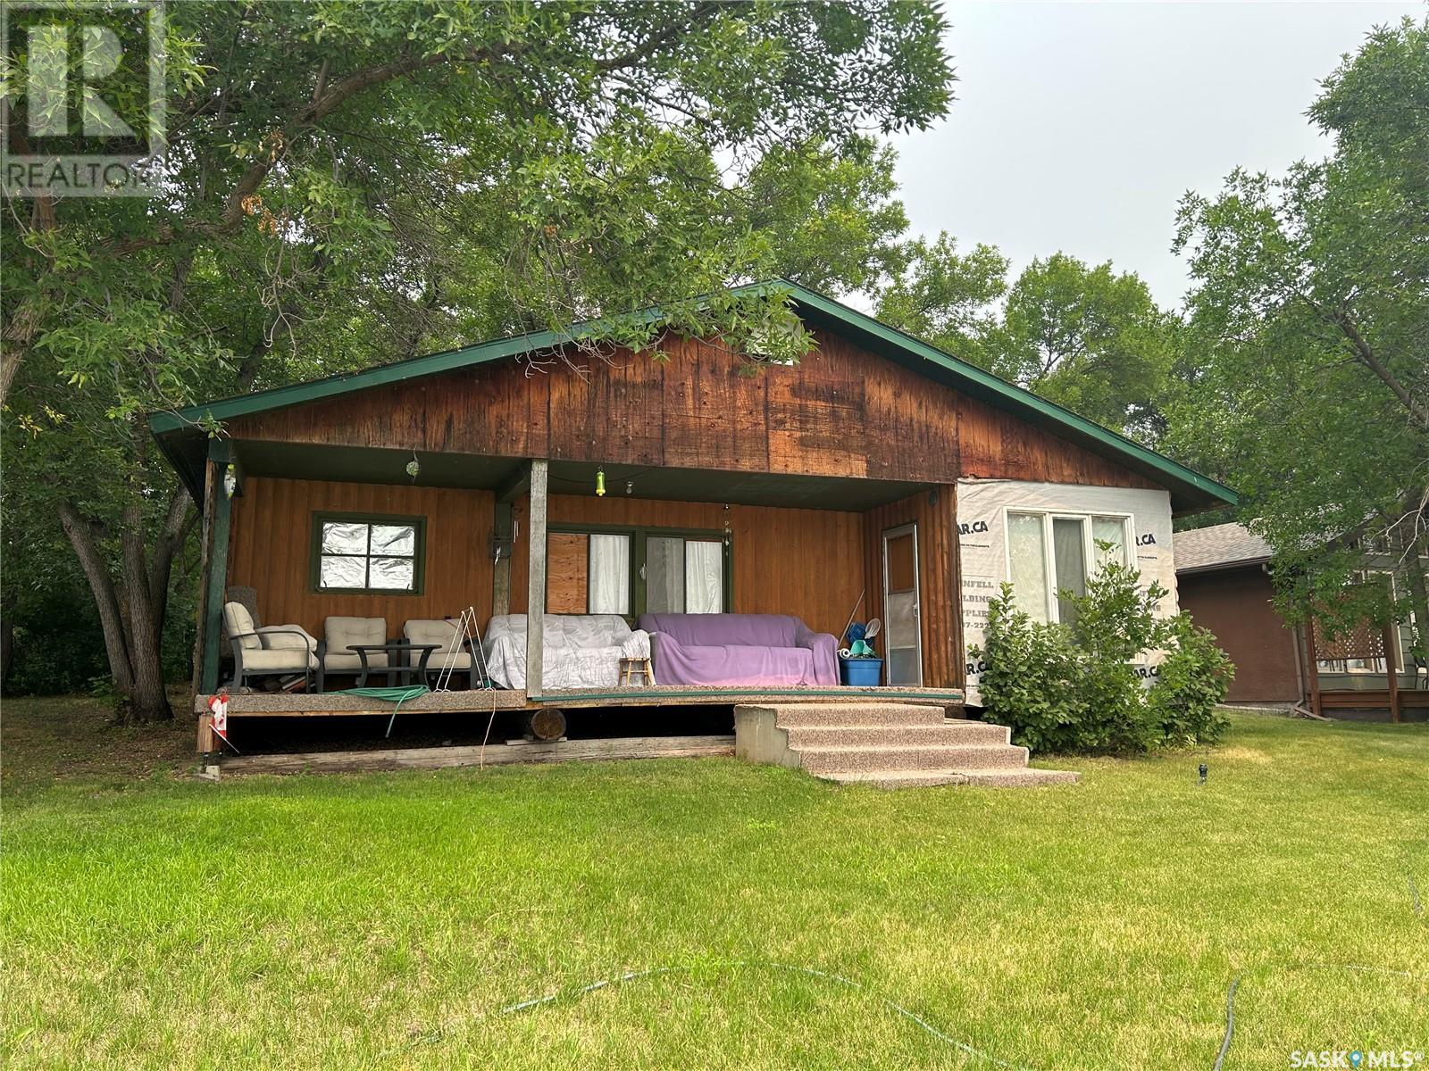
[[1180, 608], [1216, 635], [1236, 664], [1228, 700], [1293, 703], [1300, 698], [1295, 635], [1270, 603], [1270, 578], [1259, 565], [1183, 573]]

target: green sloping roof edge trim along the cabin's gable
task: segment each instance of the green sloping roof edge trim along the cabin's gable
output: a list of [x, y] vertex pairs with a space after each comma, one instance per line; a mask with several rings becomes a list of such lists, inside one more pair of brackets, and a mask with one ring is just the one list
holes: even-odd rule
[[[979, 368], [976, 364], [969, 364], [952, 354], [943, 353], [910, 334], [905, 334], [895, 327], [875, 320], [872, 316], [866, 316], [856, 308], [850, 308], [797, 283], [770, 280], [737, 287], [733, 293], [750, 294], [760, 291], [786, 291], [806, 323], [826, 327], [887, 360], [927, 376], [936, 383], [1013, 413], [1062, 438], [1083, 446], [1103, 457], [1109, 457], [1132, 471], [1140, 473], [1172, 491], [1172, 501], [1177, 507], [1177, 513], [1213, 508], [1216, 506], [1235, 506], [1239, 501], [1235, 491], [1210, 477], [1202, 476], [1086, 417], [1079, 417], [1076, 413], [1056, 403], [1007, 383], [990, 371]], [[659, 310], [643, 310], [633, 316], [654, 318], [659, 316]], [[177, 464], [179, 458], [174, 456], [174, 451], [167, 448], [164, 440], [173, 433], [186, 430], [191, 433], [194, 426], [206, 418], [217, 421], [231, 420], [286, 406], [320, 401], [352, 391], [404, 383], [406, 380], [423, 376], [469, 368], [536, 350], [547, 350], [569, 343], [592, 326], [592, 323], [579, 323], [572, 324], [563, 331], [536, 331], [532, 334], [493, 338], [476, 346], [413, 357], [406, 361], [367, 368], [366, 371], [329, 376], [322, 380], [294, 383], [289, 387], [276, 387], [233, 398], [189, 406], [180, 410], [154, 413], [149, 418], [149, 426], [159, 438], [160, 446], [164, 447], [164, 453]]]

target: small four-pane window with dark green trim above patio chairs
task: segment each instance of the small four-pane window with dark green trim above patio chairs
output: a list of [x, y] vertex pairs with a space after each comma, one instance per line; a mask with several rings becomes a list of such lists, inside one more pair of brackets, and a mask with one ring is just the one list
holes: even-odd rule
[[426, 517], [314, 513], [314, 591], [419, 594], [426, 557]]

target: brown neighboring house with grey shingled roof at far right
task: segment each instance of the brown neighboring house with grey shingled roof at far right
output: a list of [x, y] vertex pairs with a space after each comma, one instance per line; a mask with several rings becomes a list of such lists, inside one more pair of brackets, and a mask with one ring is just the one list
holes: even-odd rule
[[[1286, 624], [1275, 608], [1270, 545], [1243, 524], [1179, 531], [1175, 551], [1182, 608], [1215, 633], [1236, 664], [1229, 701], [1388, 708], [1392, 701], [1388, 647], [1393, 648], [1398, 668], [1395, 705], [1429, 705], [1426, 678], [1415, 665], [1408, 625], [1366, 625], [1333, 640], [1315, 630], [1312, 660], [1312, 633]], [[1389, 564], [1372, 557], [1368, 571], [1388, 573]]]

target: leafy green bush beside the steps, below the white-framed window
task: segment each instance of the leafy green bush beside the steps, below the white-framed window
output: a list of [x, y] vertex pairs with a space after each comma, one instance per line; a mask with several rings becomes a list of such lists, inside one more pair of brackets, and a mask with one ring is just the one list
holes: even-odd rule
[[[1012, 725], [1032, 751], [1126, 753], [1159, 744], [1209, 744], [1226, 727], [1216, 713], [1233, 667], [1215, 637], [1186, 614], [1156, 617], [1169, 593], [1140, 587], [1140, 573], [1106, 563], [1085, 595], [1062, 597], [1075, 624], [1033, 621], [1012, 585], [987, 605], [979, 691], [983, 717]], [[1163, 651], [1150, 687], [1133, 664]]]

